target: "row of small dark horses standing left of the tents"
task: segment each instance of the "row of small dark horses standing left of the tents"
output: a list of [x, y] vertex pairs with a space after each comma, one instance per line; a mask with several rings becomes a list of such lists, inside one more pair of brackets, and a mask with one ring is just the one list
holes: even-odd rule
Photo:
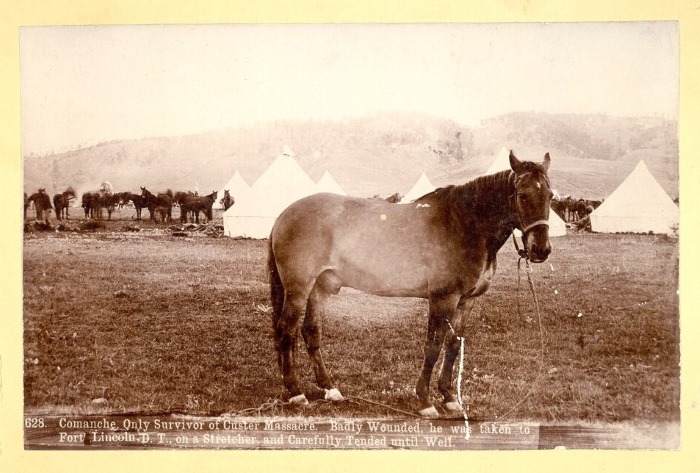
[[[166, 192], [153, 194], [145, 187], [141, 187], [141, 193], [135, 194], [132, 192], [105, 192], [104, 190], [95, 192], [85, 192], [81, 196], [81, 206], [85, 212], [85, 218], [102, 220], [104, 212], [107, 212], [107, 219], [112, 218], [112, 212], [117, 207], [124, 207], [131, 202], [136, 210], [136, 220], [142, 220], [141, 212], [143, 209], [148, 209], [150, 219], [156, 223], [159, 221], [172, 222], [173, 206], [180, 208], [180, 222], [195, 222], [199, 223], [199, 214], [211, 221], [213, 220], [213, 207], [216, 202], [218, 192], [213, 191], [206, 196], [200, 196], [196, 192], [175, 192], [170, 189]], [[44, 188], [40, 188], [37, 192], [30, 196], [24, 193], [24, 218], [27, 218], [27, 209], [31, 204], [34, 204], [36, 210], [36, 219], [44, 221], [48, 224], [51, 210], [56, 211], [58, 220], [68, 219], [68, 209], [71, 200], [76, 198], [76, 193], [73, 188], [69, 187], [64, 192], [56, 194], [53, 197], [53, 208], [51, 199]], [[225, 210], [228, 210], [234, 203], [234, 198], [229, 194], [228, 190], [224, 191], [224, 197], [221, 199]], [[157, 218], [159, 217], [159, 219]]]

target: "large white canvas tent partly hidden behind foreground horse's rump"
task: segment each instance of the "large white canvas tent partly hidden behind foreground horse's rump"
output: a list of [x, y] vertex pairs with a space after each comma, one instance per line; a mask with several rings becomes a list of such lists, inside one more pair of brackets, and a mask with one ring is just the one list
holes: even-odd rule
[[275, 220], [296, 200], [316, 193], [316, 184], [285, 147], [251, 186], [236, 196], [236, 204], [224, 213], [224, 235], [267, 238]]

